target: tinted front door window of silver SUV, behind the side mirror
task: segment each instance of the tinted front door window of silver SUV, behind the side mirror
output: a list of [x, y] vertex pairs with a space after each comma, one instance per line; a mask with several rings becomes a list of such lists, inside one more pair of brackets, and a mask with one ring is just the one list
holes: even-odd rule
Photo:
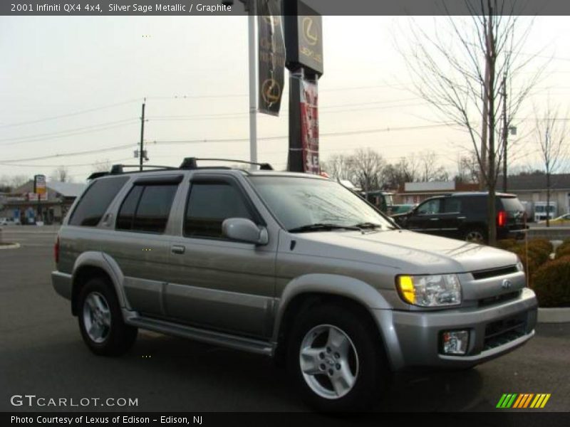
[[226, 182], [196, 182], [190, 189], [186, 208], [186, 236], [222, 237], [222, 222], [227, 218], [254, 218], [239, 190]]

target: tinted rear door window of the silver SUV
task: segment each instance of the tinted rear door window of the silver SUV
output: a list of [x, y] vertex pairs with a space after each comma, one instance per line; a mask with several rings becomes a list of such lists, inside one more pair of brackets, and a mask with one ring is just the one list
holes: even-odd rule
[[164, 233], [178, 184], [135, 185], [120, 207], [119, 230]]

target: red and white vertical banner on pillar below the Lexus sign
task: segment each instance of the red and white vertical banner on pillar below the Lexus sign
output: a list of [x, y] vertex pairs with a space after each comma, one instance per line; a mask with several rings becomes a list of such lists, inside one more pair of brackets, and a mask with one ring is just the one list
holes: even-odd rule
[[299, 79], [301, 84], [301, 149], [303, 169], [319, 174], [318, 164], [318, 87], [316, 81]]

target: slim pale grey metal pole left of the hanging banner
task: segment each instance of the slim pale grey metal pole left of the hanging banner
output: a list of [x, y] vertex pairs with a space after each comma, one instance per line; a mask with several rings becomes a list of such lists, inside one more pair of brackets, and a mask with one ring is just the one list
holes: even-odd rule
[[[257, 162], [257, 73], [255, 72], [255, 13], [257, 0], [239, 0], [248, 12], [247, 38], [249, 56], [249, 161]], [[233, 6], [234, 0], [222, 0], [224, 6]], [[250, 169], [255, 169], [252, 164]]]

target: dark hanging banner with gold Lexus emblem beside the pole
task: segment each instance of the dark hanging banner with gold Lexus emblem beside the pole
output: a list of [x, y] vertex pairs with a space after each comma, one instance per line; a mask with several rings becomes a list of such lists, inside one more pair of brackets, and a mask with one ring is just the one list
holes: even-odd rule
[[279, 0], [257, 0], [259, 112], [279, 115], [283, 94], [285, 41]]

